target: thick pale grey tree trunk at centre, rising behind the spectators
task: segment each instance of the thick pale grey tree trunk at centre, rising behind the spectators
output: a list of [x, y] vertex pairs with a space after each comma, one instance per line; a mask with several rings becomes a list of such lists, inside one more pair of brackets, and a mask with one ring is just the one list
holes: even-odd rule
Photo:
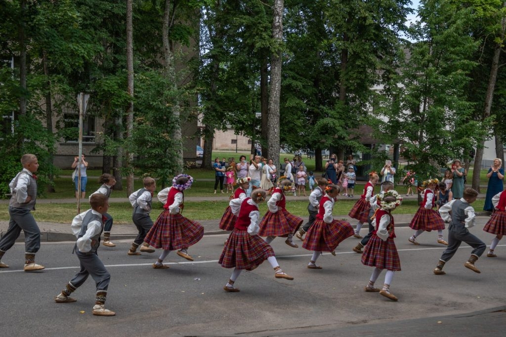
[[275, 46], [271, 54], [271, 82], [269, 94], [269, 119], [267, 122], [267, 144], [269, 155], [279, 163], [279, 96], [281, 93], [281, 44], [283, 38], [283, 0], [274, 0], [272, 37]]

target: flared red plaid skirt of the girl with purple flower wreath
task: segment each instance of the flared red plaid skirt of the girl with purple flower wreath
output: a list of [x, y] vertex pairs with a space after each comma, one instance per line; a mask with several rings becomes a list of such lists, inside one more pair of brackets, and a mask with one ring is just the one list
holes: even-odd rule
[[204, 236], [204, 227], [181, 214], [164, 210], [149, 230], [144, 242], [168, 250], [188, 248]]

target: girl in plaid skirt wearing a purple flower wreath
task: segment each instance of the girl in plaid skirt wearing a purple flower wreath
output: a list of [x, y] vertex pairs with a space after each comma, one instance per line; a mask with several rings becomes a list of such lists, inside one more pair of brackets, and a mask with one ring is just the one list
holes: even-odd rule
[[188, 247], [200, 241], [204, 235], [204, 227], [181, 215], [184, 206], [183, 191], [189, 189], [192, 184], [191, 176], [181, 174], [174, 177], [172, 187], [158, 193], [158, 200], [164, 203], [165, 210], [158, 216], [144, 239], [144, 242], [155, 248], [163, 248], [162, 254], [153, 264], [155, 269], [168, 268], [162, 262], [171, 250], [179, 249], [177, 254], [180, 257], [193, 261], [188, 255]]

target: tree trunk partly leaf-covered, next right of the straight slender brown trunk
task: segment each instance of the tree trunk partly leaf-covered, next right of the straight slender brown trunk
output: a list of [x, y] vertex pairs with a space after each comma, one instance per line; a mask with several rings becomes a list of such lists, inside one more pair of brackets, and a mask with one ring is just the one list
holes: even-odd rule
[[[176, 65], [174, 64], [174, 53], [171, 48], [170, 41], [168, 39], [168, 32], [170, 28], [174, 25], [174, 10], [176, 7], [176, 3], [171, 8], [171, 0], [165, 0], [165, 9], [163, 12], [163, 25], [162, 25], [162, 42], [163, 42], [163, 60], [164, 64], [164, 74], [167, 80], [168, 90], [169, 91], [177, 91], [178, 85], [176, 82]], [[171, 12], [171, 9], [173, 11]], [[171, 16], [172, 15], [172, 16]], [[167, 102], [168, 103], [168, 102]], [[174, 125], [173, 132], [173, 140], [176, 145], [176, 155], [174, 161], [176, 163], [176, 172], [175, 174], [183, 173], [183, 136], [181, 133], [181, 111], [180, 111], [180, 102], [176, 98], [172, 104], [172, 113], [174, 115], [174, 120], [178, 120], [179, 123]]]

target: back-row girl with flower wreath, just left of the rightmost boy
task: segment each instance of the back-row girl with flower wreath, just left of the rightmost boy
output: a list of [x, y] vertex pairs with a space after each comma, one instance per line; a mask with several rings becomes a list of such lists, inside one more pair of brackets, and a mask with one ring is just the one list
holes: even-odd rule
[[414, 232], [408, 239], [408, 241], [412, 244], [419, 244], [416, 242], [415, 238], [424, 231], [430, 232], [432, 230], [437, 230], [438, 243], [448, 245], [448, 242], [446, 242], [443, 238], [443, 229], [445, 228], [444, 221], [439, 213], [432, 209], [436, 205], [434, 191], [438, 183], [439, 180], [437, 179], [429, 179], [424, 181], [422, 185], [424, 187], [427, 186], [423, 192], [424, 201], [420, 203], [420, 208], [418, 208], [413, 219], [411, 219], [411, 222], [409, 223], [409, 227], [416, 230], [416, 232]]

